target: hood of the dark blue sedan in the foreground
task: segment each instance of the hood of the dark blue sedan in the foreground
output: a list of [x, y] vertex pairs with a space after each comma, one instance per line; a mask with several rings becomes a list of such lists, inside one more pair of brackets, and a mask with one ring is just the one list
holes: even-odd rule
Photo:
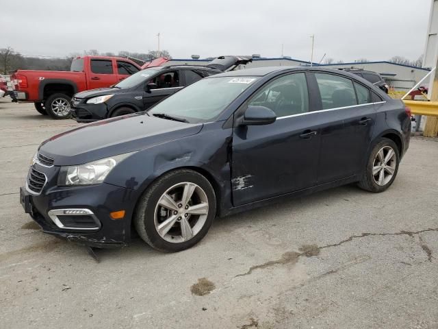
[[201, 131], [202, 123], [183, 123], [147, 114], [130, 114], [77, 127], [44, 141], [39, 151], [55, 166], [83, 164], [166, 143]]

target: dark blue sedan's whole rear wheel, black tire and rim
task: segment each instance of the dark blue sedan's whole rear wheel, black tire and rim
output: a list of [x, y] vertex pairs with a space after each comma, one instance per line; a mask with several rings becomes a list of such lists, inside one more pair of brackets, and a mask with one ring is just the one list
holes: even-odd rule
[[[389, 156], [390, 150], [394, 152], [392, 156]], [[379, 155], [380, 151], [383, 151], [383, 157]], [[374, 193], [387, 190], [396, 179], [399, 164], [400, 151], [396, 143], [388, 138], [381, 138], [370, 152], [359, 187]]]

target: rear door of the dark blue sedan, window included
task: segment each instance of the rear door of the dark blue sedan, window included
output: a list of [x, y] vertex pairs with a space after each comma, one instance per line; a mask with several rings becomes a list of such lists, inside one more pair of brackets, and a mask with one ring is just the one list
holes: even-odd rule
[[324, 184], [361, 172], [376, 112], [368, 87], [332, 73], [314, 77], [322, 101], [318, 184]]

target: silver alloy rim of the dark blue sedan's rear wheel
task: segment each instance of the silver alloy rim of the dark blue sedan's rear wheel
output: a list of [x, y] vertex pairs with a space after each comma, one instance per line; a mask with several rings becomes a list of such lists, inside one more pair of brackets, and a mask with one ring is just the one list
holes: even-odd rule
[[391, 181], [396, 172], [396, 151], [390, 146], [384, 146], [378, 150], [372, 164], [372, 176], [379, 186], [385, 186]]

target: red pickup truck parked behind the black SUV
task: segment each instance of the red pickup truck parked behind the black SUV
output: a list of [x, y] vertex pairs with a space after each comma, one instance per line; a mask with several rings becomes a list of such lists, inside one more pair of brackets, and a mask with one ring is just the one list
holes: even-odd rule
[[12, 101], [35, 103], [41, 114], [66, 119], [75, 93], [112, 86], [140, 69], [126, 58], [81, 56], [73, 60], [70, 71], [16, 71], [11, 76], [14, 90], [10, 94]]

